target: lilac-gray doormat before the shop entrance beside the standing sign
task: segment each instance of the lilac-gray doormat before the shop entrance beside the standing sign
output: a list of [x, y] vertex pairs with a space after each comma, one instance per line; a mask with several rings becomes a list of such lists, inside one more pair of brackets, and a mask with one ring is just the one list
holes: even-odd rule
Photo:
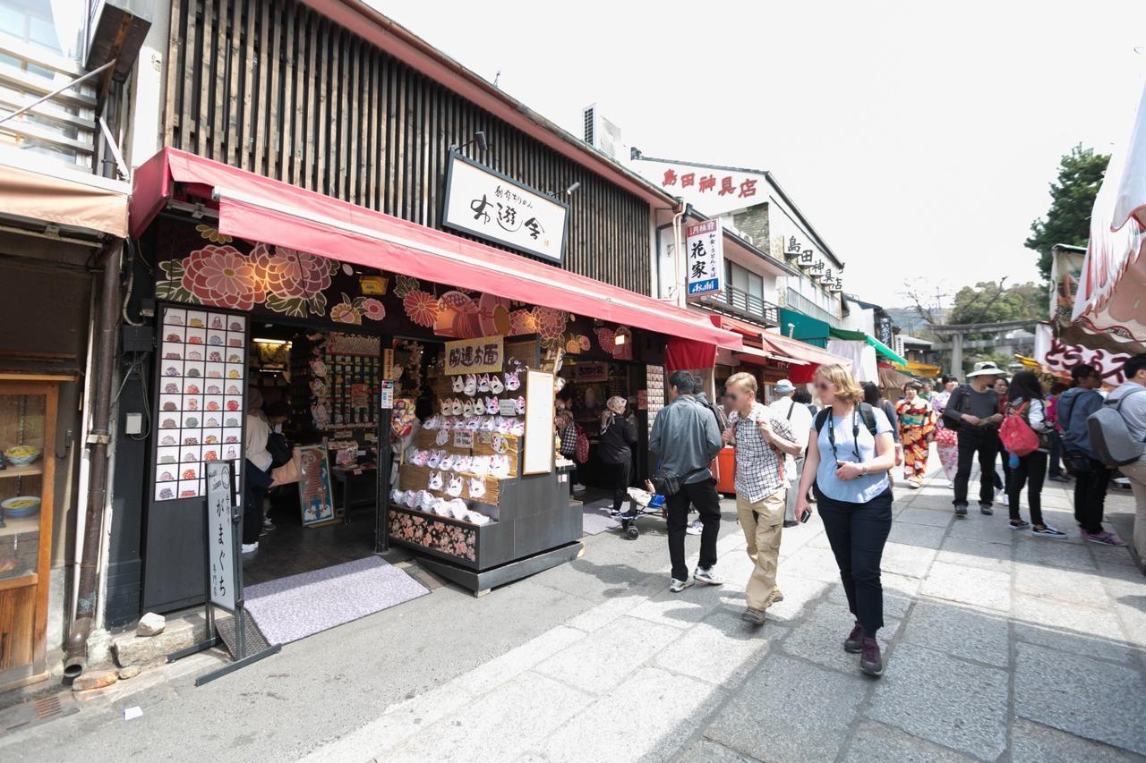
[[430, 591], [378, 557], [259, 583], [244, 590], [268, 644], [288, 644]]

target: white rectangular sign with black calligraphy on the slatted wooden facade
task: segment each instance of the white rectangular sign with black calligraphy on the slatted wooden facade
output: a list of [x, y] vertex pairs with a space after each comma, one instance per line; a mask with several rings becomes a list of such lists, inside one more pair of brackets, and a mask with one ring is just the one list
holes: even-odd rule
[[560, 263], [568, 204], [460, 154], [449, 155], [442, 223]]

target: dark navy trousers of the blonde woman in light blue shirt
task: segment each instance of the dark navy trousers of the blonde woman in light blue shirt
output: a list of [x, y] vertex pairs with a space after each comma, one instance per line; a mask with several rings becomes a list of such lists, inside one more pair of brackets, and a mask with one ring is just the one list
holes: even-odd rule
[[874, 637], [884, 627], [879, 561], [892, 532], [892, 488], [868, 503], [835, 501], [816, 488], [816, 505], [840, 568], [848, 608], [859, 621], [864, 636]]

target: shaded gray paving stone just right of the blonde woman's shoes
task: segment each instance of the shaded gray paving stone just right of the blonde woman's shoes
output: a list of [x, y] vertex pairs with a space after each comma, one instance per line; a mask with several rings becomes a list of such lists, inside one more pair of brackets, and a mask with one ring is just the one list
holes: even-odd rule
[[1006, 748], [1007, 683], [1004, 670], [898, 644], [866, 715], [939, 745], [995, 760]]

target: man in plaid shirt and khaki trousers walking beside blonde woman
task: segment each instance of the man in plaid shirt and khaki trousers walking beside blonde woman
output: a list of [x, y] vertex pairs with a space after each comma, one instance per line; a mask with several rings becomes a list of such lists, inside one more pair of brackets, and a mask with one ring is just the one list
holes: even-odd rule
[[744, 591], [747, 608], [741, 620], [762, 626], [764, 611], [784, 598], [776, 587], [788, 490], [784, 455], [799, 456], [803, 448], [785, 419], [756, 402], [755, 377], [736, 373], [724, 387], [733, 409], [724, 442], [736, 446], [736, 513], [748, 542], [748, 557], [756, 563]]

